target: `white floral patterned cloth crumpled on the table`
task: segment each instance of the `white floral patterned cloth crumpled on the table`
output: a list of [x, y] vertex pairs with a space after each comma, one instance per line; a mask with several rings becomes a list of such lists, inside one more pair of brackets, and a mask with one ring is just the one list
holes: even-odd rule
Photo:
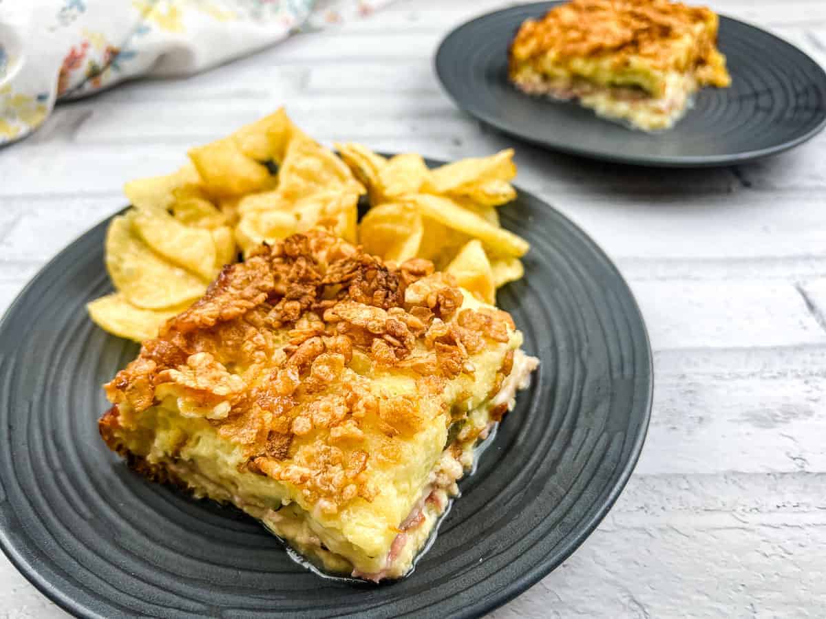
[[392, 0], [0, 0], [0, 144], [55, 102], [197, 73]]

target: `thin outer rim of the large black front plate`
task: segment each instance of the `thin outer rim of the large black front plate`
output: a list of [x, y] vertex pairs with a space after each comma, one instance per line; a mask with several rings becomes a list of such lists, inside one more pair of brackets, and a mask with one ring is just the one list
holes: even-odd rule
[[[439, 158], [424, 156], [423, 158], [425, 158], [425, 162], [427, 162], [429, 166], [432, 164], [439, 165], [442, 163], [447, 163]], [[526, 590], [538, 583], [539, 580], [543, 579], [545, 576], [563, 565], [564, 561], [566, 561], [580, 546], [582, 546], [582, 543], [586, 541], [589, 536], [591, 536], [591, 534], [596, 530], [596, 527], [600, 525], [600, 523], [605, 519], [605, 516], [607, 516], [610, 510], [614, 507], [617, 499], [619, 499], [619, 496], [623, 493], [625, 486], [628, 484], [631, 475], [634, 474], [634, 470], [639, 461], [639, 457], [642, 454], [646, 438], [648, 437], [648, 427], [653, 408], [655, 376], [653, 370], [653, 351], [651, 348], [651, 339], [649, 337], [648, 326], [645, 323], [643, 313], [639, 308], [638, 300], [629, 286], [628, 281], [626, 281], [622, 275], [622, 272], [619, 271], [619, 268], [616, 266], [615, 262], [611, 260], [607, 253], [605, 253], [605, 250], [601, 248], [601, 246], [596, 243], [596, 240], [592, 239], [579, 224], [565, 215], [563, 211], [558, 210], [548, 201], [545, 201], [533, 192], [525, 191], [520, 189], [518, 186], [515, 186], [515, 189], [518, 196], [526, 196], [529, 200], [535, 201], [539, 208], [550, 210], [555, 215], [565, 220], [567, 224], [571, 226], [572, 230], [578, 234], [581, 240], [590, 246], [590, 248], [596, 253], [597, 257], [601, 258], [604, 266], [607, 267], [616, 277], [617, 282], [624, 287], [627, 292], [629, 309], [633, 310], [633, 314], [637, 319], [636, 322], [638, 328], [641, 329], [640, 335], [642, 337], [640, 338], [640, 351], [644, 353], [645, 361], [647, 361], [644, 363], [644, 377], [648, 380], [648, 390], [644, 394], [644, 401], [638, 404], [638, 409], [641, 413], [640, 423], [638, 432], [634, 437], [634, 442], [630, 446], [628, 459], [624, 462], [621, 469], [619, 469], [619, 473], [616, 477], [615, 483], [610, 489], [610, 493], [606, 496], [605, 500], [601, 502], [599, 508], [596, 508], [594, 513], [591, 514], [591, 517], [580, 528], [580, 531], [576, 536], [566, 538], [563, 546], [561, 546], [561, 552], [558, 553], [558, 560], [544, 561], [534, 565], [532, 568], [525, 570], [525, 572], [520, 574], [517, 578], [511, 580], [506, 588], [500, 589], [492, 596], [482, 598], [478, 602], [473, 602], [471, 605], [465, 606], [461, 612], [454, 613], [452, 617], [481, 617], [487, 612], [491, 612], [492, 610], [503, 606], [507, 602], [510, 602], [510, 600], [518, 597], [521, 593], [525, 593]], [[94, 230], [100, 228], [101, 226], [106, 225], [107, 222], [112, 220], [113, 217], [121, 214], [127, 208], [129, 208], [129, 206], [115, 210], [111, 215], [107, 215], [102, 218], [102, 220], [97, 221], [96, 224], [89, 226], [88, 229], [83, 231], [83, 233], [78, 234], [74, 237], [74, 239], [69, 241], [69, 243], [66, 243], [64, 247], [59, 250], [59, 252], [55, 253], [54, 257], [45, 262], [43, 267], [40, 267], [36, 274], [26, 282], [26, 285], [22, 287], [21, 291], [18, 292], [17, 296], [15, 296], [14, 300], [12, 300], [12, 303], [8, 305], [7, 309], [3, 312], [2, 317], [0, 317], [0, 333], [2, 333], [3, 328], [6, 327], [7, 321], [14, 313], [14, 310], [17, 309], [17, 306], [23, 302], [26, 293], [36, 285], [42, 276], [45, 276], [50, 267], [54, 267], [56, 263], [64, 260], [64, 255], [69, 253], [71, 249], [74, 248], [74, 245], [75, 243], [78, 243], [78, 240], [82, 239], [87, 234], [93, 233]], [[12, 350], [9, 357], [13, 357], [16, 351], [17, 348]], [[630, 409], [634, 410], [634, 407], [631, 407]], [[6, 555], [8, 560], [12, 563], [12, 565], [14, 565], [15, 569], [17, 569], [17, 571], [30, 584], [32, 584], [38, 591], [40, 591], [40, 593], [45, 595], [46, 598], [50, 599], [51, 602], [54, 602], [65, 612], [69, 612], [74, 617], [94, 617], [95, 619], [102, 619], [102, 617], [104, 617], [98, 612], [93, 611], [92, 608], [83, 604], [83, 602], [80, 602], [78, 599], [72, 597], [69, 593], [66, 593], [62, 588], [59, 588], [59, 586], [50, 582], [50, 580], [45, 579], [36, 565], [32, 565], [31, 562], [27, 561], [22, 556], [20, 550], [18, 550], [17, 546], [15, 546], [12, 542], [11, 537], [7, 535], [7, 530], [5, 527], [0, 527], [0, 549], [2, 549], [3, 554]], [[101, 597], [96, 594], [94, 598]], [[107, 598], [101, 599], [107, 600]], [[400, 617], [407, 616], [411, 616], [409, 612], [400, 615]]]

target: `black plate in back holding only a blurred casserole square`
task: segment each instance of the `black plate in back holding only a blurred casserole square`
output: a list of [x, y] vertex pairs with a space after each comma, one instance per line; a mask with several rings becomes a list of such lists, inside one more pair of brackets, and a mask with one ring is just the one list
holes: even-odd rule
[[809, 56], [754, 26], [720, 17], [719, 49], [732, 85], [704, 88], [672, 130], [646, 134], [575, 102], [531, 97], [510, 85], [510, 40], [538, 2], [478, 17], [442, 41], [436, 73], [479, 120], [539, 146], [618, 163], [700, 167], [742, 163], [805, 142], [826, 125], [826, 73]]

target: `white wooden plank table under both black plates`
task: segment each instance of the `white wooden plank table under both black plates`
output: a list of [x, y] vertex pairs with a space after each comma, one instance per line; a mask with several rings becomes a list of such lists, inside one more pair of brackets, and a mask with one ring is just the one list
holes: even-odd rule
[[[496, 135], [440, 91], [453, 26], [505, 2], [399, 0], [180, 81], [60, 106], [0, 149], [0, 310], [121, 186], [285, 104], [311, 135], [441, 158], [514, 145], [521, 187], [581, 224], [645, 314], [643, 456], [601, 527], [510, 617], [826, 617], [826, 134], [759, 163], [623, 168]], [[824, 0], [718, 0], [826, 61]], [[0, 556], [0, 617], [64, 617]]]

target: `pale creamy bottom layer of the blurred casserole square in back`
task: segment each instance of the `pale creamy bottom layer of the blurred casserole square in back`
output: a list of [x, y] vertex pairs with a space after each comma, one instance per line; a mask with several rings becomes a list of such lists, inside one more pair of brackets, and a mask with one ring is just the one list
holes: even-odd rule
[[599, 116], [624, 120], [637, 129], [670, 129], [691, 106], [697, 81], [690, 73], [669, 73], [662, 97], [640, 87], [601, 86], [583, 78], [550, 78], [539, 71], [523, 70], [513, 82], [521, 91], [568, 101], [576, 99]]

